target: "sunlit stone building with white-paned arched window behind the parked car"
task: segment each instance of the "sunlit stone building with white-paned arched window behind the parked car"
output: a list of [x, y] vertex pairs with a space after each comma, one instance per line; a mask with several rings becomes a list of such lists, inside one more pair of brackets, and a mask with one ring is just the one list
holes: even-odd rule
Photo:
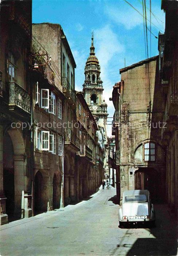
[[158, 56], [140, 61], [120, 69], [121, 82], [113, 87], [119, 197], [127, 189], [148, 189], [153, 201], [165, 199], [165, 147], [158, 125], [164, 104], [158, 71]]

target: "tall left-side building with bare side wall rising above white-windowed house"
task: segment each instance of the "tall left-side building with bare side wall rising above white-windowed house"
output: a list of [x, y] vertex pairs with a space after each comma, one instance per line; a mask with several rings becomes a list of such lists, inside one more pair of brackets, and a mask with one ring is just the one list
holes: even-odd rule
[[[51, 66], [54, 65], [54, 81], [57, 89], [63, 95], [61, 99], [62, 119], [61, 129], [57, 133], [62, 136], [62, 154], [58, 162], [59, 172], [63, 184], [62, 205], [76, 202], [76, 153], [80, 150], [80, 141], [77, 136], [76, 123], [76, 92], [75, 73], [76, 63], [63, 30], [58, 24], [41, 23], [32, 25], [33, 35], [37, 41], [50, 53]], [[47, 31], [47, 32], [46, 32]], [[57, 101], [56, 101], [57, 102]], [[59, 121], [53, 116], [55, 122]], [[56, 145], [58, 143], [56, 142]]]

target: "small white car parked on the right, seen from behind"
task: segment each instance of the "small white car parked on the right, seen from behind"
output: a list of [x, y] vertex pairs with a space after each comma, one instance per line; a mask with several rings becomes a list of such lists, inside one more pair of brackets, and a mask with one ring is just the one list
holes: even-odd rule
[[148, 190], [126, 190], [119, 207], [119, 225], [129, 223], [148, 223], [155, 225], [155, 210]]

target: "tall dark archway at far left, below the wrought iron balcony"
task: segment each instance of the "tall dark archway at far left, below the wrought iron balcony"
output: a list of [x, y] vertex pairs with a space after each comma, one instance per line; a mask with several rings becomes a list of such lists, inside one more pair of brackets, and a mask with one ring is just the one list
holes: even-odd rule
[[6, 199], [6, 213], [9, 220], [13, 218], [15, 209], [14, 161], [11, 137], [5, 133], [3, 143], [3, 189]]

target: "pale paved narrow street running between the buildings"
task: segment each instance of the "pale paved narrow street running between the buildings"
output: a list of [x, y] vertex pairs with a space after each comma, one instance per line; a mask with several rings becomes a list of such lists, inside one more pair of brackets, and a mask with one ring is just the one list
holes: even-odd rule
[[1, 226], [1, 255], [176, 255], [175, 223], [156, 205], [156, 227], [118, 228], [115, 188]]

